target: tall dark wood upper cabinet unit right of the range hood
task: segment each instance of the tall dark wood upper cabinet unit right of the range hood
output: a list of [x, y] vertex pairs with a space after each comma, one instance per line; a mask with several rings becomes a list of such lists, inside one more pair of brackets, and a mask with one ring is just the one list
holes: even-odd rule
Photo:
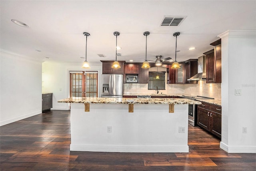
[[221, 39], [212, 42], [213, 50], [206, 55], [206, 83], [221, 83]]

